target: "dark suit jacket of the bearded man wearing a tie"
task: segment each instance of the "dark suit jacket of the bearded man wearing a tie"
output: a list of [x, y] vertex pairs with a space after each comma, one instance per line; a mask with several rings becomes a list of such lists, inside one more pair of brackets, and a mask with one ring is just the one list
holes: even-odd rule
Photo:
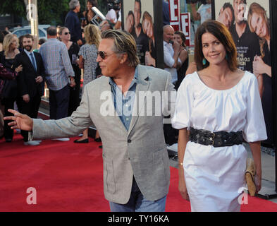
[[17, 78], [18, 94], [20, 96], [29, 94], [30, 97], [35, 97], [35, 95], [42, 96], [44, 93], [44, 81], [42, 83], [35, 82], [37, 76], [42, 76], [43, 80], [45, 78], [42, 56], [38, 52], [34, 52], [34, 55], [37, 63], [37, 71], [35, 71], [30, 58], [24, 51], [16, 55], [16, 66], [19, 66], [20, 64], [23, 66], [23, 71], [19, 73]]

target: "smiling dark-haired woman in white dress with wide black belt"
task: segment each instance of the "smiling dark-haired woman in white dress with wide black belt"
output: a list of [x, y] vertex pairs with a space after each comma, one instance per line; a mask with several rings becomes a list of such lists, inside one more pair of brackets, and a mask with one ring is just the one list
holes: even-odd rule
[[[257, 78], [237, 69], [237, 52], [227, 28], [207, 20], [197, 30], [195, 62], [176, 100], [179, 129], [179, 191], [192, 211], [240, 211], [250, 143], [261, 189], [261, 143], [266, 139]], [[190, 132], [189, 132], [190, 131]], [[190, 134], [189, 134], [190, 133]]]

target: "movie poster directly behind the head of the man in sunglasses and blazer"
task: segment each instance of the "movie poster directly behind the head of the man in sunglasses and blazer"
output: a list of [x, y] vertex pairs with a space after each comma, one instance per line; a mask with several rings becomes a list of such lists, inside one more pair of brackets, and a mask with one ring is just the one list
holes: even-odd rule
[[123, 1], [123, 30], [130, 32], [135, 37], [140, 64], [148, 66], [156, 66], [154, 1]]

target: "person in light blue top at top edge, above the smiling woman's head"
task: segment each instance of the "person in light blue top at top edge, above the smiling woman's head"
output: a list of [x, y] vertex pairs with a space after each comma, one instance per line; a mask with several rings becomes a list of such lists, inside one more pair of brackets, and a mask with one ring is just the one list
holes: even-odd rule
[[211, 0], [201, 0], [202, 5], [196, 11], [197, 0], [191, 0], [192, 16], [194, 20], [200, 20], [203, 23], [205, 20], [211, 19]]

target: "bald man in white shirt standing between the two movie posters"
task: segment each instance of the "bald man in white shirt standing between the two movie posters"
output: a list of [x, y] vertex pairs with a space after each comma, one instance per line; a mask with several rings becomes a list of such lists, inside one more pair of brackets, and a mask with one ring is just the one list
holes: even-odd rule
[[174, 29], [171, 25], [164, 26], [164, 68], [171, 73], [171, 83], [175, 85], [178, 80], [177, 68], [180, 67], [181, 61], [178, 58], [180, 44], [173, 42]]

